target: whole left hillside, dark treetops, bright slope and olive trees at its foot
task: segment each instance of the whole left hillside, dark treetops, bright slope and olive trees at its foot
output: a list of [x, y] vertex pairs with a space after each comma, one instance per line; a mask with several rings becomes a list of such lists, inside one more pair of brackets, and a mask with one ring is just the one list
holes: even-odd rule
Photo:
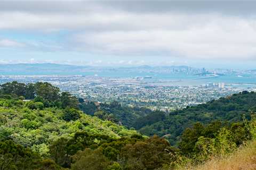
[[178, 149], [166, 140], [86, 115], [78, 105], [49, 83], [3, 84], [0, 168], [135, 170], [174, 161], [166, 149]]

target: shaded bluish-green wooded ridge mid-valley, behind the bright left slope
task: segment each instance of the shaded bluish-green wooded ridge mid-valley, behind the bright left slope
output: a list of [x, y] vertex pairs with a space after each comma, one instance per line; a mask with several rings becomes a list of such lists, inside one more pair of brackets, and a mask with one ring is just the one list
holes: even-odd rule
[[166, 115], [164, 112], [151, 111], [148, 108], [121, 106], [118, 101], [110, 104], [100, 103], [98, 105], [95, 105], [92, 101], [82, 102], [79, 104], [79, 108], [84, 113], [89, 113], [103, 120], [111, 120], [127, 128], [135, 129], [162, 121]]

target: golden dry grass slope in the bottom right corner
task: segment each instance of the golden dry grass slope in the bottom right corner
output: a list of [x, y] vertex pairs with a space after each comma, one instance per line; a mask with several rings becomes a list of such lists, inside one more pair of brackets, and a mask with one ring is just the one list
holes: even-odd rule
[[226, 157], [215, 157], [209, 162], [196, 167], [187, 166], [179, 170], [252, 170], [256, 169], [256, 141], [250, 141], [247, 145], [237, 149]]

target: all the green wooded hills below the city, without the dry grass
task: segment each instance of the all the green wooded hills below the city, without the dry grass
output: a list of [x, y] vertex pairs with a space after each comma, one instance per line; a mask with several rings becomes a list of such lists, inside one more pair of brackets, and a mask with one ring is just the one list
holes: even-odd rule
[[[255, 97], [244, 91], [167, 114], [85, 102], [45, 82], [2, 84], [0, 169], [153, 170], [197, 165], [256, 139]], [[177, 147], [155, 133], [167, 134]]]

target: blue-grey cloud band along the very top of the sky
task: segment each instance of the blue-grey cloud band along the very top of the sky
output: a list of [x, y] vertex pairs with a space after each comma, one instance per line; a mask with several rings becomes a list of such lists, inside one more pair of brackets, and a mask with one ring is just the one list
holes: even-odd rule
[[4, 1], [1, 11], [32, 11], [37, 13], [100, 12], [102, 10], [135, 13], [222, 13], [253, 14], [255, 1], [248, 0], [180, 0], [180, 1]]

